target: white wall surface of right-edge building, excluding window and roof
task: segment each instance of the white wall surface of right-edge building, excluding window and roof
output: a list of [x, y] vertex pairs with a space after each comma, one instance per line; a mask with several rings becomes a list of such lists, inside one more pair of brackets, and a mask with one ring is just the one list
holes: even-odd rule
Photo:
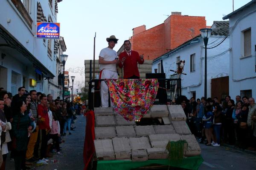
[[[250, 14], [249, 14], [250, 13]], [[230, 96], [240, 95], [240, 90], [252, 89], [256, 98], [255, 45], [256, 5], [230, 18]], [[251, 56], [243, 58], [243, 31], [251, 28]]]

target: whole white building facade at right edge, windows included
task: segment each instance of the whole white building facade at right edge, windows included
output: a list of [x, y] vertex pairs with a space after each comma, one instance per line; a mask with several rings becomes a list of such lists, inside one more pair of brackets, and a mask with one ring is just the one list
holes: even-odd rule
[[223, 17], [230, 22], [230, 96], [256, 97], [256, 0]]

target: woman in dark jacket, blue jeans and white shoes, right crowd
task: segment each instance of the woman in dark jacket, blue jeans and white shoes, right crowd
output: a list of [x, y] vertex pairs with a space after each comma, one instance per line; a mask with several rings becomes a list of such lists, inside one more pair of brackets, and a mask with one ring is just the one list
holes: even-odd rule
[[221, 119], [222, 119], [222, 114], [221, 114], [221, 106], [219, 103], [214, 104], [214, 124], [213, 124], [213, 129], [214, 129], [214, 134], [215, 134], [215, 142], [212, 143], [212, 146], [214, 147], [219, 147], [221, 144]]

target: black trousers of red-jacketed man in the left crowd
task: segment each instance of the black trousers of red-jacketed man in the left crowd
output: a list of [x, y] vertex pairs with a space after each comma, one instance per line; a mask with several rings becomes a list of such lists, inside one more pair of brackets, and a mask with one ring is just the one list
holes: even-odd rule
[[38, 131], [38, 140], [34, 149], [34, 156], [39, 159], [45, 158], [45, 153], [47, 149], [47, 135], [46, 130], [40, 129]]

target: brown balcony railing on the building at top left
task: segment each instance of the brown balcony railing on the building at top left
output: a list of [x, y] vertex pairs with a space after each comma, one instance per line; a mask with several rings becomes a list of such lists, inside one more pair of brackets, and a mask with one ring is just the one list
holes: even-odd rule
[[27, 12], [27, 10], [26, 10], [25, 6], [23, 5], [23, 3], [21, 2], [21, 0], [12, 0], [12, 3], [15, 5], [15, 7], [20, 12], [23, 19], [29, 25], [29, 28], [32, 29], [33, 20], [29, 16], [29, 13]]

